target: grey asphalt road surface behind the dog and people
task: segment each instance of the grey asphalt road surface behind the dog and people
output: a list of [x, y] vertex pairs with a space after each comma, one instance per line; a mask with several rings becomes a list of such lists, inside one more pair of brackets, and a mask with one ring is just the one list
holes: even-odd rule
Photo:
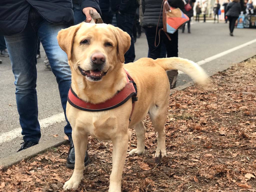
[[[179, 57], [200, 62], [209, 74], [214, 74], [231, 66], [232, 63], [241, 62], [256, 55], [255, 39], [256, 29], [235, 29], [234, 37], [231, 37], [229, 36], [228, 24], [193, 23], [191, 34], [187, 33], [187, 29], [184, 34], [181, 33], [181, 30], [179, 31]], [[247, 42], [249, 42], [248, 45], [244, 45], [242, 48], [238, 47]], [[227, 50], [229, 50], [228, 53], [224, 52]], [[40, 142], [47, 142], [53, 135], [64, 136], [65, 121], [48, 121], [46, 119], [53, 115], [61, 116], [59, 114], [62, 112], [62, 108], [55, 76], [51, 71], [44, 70], [44, 52], [42, 48], [41, 51], [42, 58], [38, 60], [37, 64], [38, 118], [44, 122]], [[136, 60], [147, 57], [148, 48], [144, 33], [141, 38], [137, 39], [135, 51]], [[208, 60], [204, 61], [207, 58]], [[23, 140], [21, 134], [15, 135], [17, 130], [18, 132], [21, 131], [21, 128], [10, 60], [3, 57], [0, 59], [3, 60], [3, 63], [0, 64], [0, 150], [2, 151], [1, 158], [3, 158], [16, 153]], [[187, 75], [181, 74], [177, 86], [190, 81], [191, 79]], [[12, 130], [14, 131], [11, 132]]]

